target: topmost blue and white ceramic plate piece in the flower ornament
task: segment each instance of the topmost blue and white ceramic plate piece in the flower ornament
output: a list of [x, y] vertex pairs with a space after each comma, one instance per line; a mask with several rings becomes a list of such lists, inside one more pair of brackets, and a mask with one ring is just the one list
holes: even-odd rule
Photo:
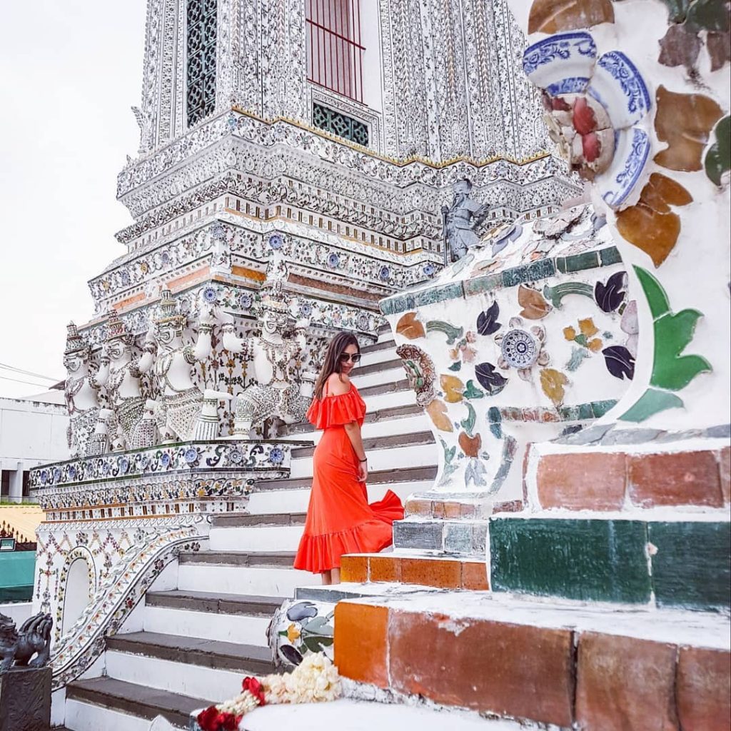
[[551, 96], [586, 90], [596, 63], [596, 44], [584, 32], [557, 33], [530, 45], [523, 70], [532, 83]]

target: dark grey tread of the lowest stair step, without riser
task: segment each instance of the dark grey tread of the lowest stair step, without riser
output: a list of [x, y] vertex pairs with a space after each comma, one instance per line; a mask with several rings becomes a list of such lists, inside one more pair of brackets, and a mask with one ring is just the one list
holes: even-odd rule
[[143, 719], [154, 719], [162, 714], [172, 723], [183, 720], [187, 726], [188, 716], [199, 708], [211, 705], [211, 700], [194, 698], [180, 693], [127, 683], [116, 678], [88, 678], [72, 681], [66, 686], [67, 699], [88, 700], [96, 705], [130, 713]]

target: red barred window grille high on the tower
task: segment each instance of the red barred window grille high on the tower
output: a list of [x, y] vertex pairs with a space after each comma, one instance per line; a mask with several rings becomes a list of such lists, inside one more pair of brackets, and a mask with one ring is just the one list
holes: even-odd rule
[[360, 0], [306, 0], [307, 77], [363, 102]]

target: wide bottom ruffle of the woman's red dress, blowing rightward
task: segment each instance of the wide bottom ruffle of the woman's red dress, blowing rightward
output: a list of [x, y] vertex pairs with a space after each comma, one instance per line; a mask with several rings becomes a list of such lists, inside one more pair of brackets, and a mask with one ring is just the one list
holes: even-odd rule
[[384, 498], [371, 503], [373, 518], [357, 526], [320, 535], [305, 533], [295, 558], [295, 569], [321, 574], [340, 568], [346, 553], [378, 553], [393, 542], [394, 520], [404, 518], [404, 507], [398, 495], [387, 491]]

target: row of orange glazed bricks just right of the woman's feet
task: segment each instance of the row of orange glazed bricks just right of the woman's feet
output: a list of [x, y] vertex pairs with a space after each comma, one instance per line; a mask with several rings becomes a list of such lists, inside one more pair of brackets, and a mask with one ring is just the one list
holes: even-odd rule
[[376, 583], [397, 581], [450, 589], [488, 589], [484, 559], [449, 556], [403, 556], [398, 553], [354, 553], [341, 559], [341, 580]]

